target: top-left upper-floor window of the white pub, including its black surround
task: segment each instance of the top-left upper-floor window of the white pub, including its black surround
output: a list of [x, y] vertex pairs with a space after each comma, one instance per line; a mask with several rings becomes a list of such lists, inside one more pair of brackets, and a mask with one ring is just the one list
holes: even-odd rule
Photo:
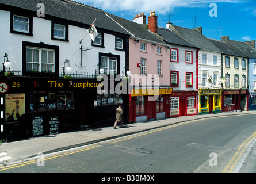
[[25, 17], [11, 13], [10, 32], [33, 36], [33, 17]]

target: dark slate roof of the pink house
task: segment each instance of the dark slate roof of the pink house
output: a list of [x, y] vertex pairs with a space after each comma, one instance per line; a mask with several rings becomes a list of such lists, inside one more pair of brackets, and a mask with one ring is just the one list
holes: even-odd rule
[[111, 18], [113, 18], [114, 21], [116, 21], [125, 30], [127, 30], [127, 32], [129, 32], [131, 36], [152, 41], [155, 43], [165, 44], [161, 39], [158, 39], [158, 37], [156, 37], [154, 33], [148, 30], [146, 28], [146, 25], [138, 24], [136, 22], [127, 20], [125, 18], [114, 16], [113, 14], [110, 14], [110, 13], [106, 13], [106, 14], [108, 14]]

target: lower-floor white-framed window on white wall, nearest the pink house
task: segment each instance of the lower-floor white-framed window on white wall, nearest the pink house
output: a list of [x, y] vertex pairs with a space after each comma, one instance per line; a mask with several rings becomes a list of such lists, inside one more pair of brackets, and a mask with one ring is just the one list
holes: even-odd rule
[[110, 71], [117, 73], [117, 59], [101, 56], [101, 68], [104, 69], [105, 74], [110, 74]]

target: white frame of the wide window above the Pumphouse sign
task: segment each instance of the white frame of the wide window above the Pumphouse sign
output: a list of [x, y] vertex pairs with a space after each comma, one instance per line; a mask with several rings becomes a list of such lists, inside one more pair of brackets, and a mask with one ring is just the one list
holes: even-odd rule
[[[28, 58], [27, 58], [27, 52], [28, 49], [32, 49], [32, 62], [28, 62]], [[39, 56], [38, 56], [38, 62], [35, 62], [35, 52], [34, 51], [38, 51], [39, 52]], [[43, 59], [43, 51], [47, 51], [47, 57], [46, 57], [46, 63], [43, 63], [42, 59]], [[49, 56], [48, 56], [48, 52], [52, 52], [52, 63], [48, 62], [49, 61]], [[47, 70], [48, 71], [52, 71], [55, 72], [55, 51], [52, 49], [45, 49], [45, 48], [35, 48], [35, 47], [26, 47], [26, 64], [32, 64], [32, 70], [36, 70], [39, 72], [43, 72], [42, 70], [42, 64], [46, 64], [47, 65], [47, 69], [48, 69], [48, 65], [51, 66], [52, 70]], [[34, 65], [38, 66], [35, 67]], [[28, 67], [26, 67], [26, 70], [28, 71]]]

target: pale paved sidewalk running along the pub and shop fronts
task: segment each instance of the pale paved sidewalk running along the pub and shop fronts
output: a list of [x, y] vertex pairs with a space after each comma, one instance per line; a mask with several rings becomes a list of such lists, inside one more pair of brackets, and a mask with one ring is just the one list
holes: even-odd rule
[[97, 143], [100, 141], [148, 131], [150, 129], [165, 127], [180, 122], [200, 120], [211, 117], [235, 116], [241, 114], [256, 114], [256, 112], [230, 112], [220, 114], [182, 116], [177, 118], [168, 118], [165, 120], [126, 124], [125, 128], [119, 128], [119, 125], [117, 125], [117, 129], [114, 129], [113, 127], [104, 127], [79, 132], [61, 133], [56, 136], [35, 137], [12, 143], [2, 143], [0, 144], [0, 155], [7, 154], [6, 156], [9, 156], [9, 158], [12, 159], [2, 160], [0, 161], [0, 165], [30, 158], [36, 156], [39, 153], [48, 154], [51, 152], [62, 151], [68, 148], [75, 148], [82, 145]]

